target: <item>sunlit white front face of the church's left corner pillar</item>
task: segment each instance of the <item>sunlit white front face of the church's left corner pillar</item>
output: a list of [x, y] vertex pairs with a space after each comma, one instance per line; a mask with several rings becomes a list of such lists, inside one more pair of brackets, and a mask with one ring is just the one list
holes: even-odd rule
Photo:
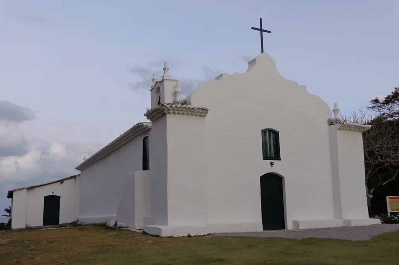
[[168, 225], [207, 224], [205, 118], [167, 115]]

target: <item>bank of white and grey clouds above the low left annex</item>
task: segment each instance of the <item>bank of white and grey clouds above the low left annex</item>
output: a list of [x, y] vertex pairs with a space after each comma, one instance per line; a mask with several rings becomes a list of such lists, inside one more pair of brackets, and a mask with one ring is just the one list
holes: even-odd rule
[[35, 115], [30, 109], [0, 101], [0, 209], [10, 205], [7, 191], [76, 174], [82, 155], [99, 144], [26, 140], [19, 125]]

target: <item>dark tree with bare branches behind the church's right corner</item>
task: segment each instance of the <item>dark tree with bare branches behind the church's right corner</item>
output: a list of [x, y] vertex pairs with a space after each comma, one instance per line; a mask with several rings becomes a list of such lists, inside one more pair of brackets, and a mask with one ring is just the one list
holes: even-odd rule
[[399, 177], [399, 90], [395, 87], [383, 100], [375, 98], [366, 107], [373, 111], [352, 112], [342, 117], [344, 123], [371, 125], [363, 132], [365, 186], [367, 206], [371, 215], [371, 198], [375, 189]]

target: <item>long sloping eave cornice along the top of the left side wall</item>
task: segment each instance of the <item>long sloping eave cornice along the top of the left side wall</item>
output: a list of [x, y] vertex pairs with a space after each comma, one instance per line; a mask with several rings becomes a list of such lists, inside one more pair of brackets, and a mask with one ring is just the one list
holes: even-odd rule
[[130, 129], [128, 129], [126, 132], [118, 136], [115, 140], [101, 148], [97, 153], [93, 154], [89, 158], [87, 158], [85, 161], [83, 161], [81, 164], [79, 164], [75, 169], [77, 170], [83, 170], [87, 168], [88, 166], [91, 166], [98, 160], [103, 159], [105, 156], [111, 154], [112, 152], [115, 152], [118, 150], [120, 147], [122, 147], [124, 144], [127, 144], [137, 136], [144, 134], [148, 131], [151, 130], [151, 123], [146, 122], [146, 123], [137, 123]]

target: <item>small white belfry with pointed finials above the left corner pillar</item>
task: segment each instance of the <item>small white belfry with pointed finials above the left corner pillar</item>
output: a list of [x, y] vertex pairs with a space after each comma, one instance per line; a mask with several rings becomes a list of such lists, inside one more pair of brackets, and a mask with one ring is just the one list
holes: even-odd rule
[[180, 89], [179, 80], [172, 79], [169, 75], [168, 62], [164, 63], [164, 75], [162, 79], [158, 81], [155, 74], [152, 75], [152, 86], [151, 92], [151, 108], [164, 103], [172, 103], [174, 100], [180, 100], [182, 91]]

